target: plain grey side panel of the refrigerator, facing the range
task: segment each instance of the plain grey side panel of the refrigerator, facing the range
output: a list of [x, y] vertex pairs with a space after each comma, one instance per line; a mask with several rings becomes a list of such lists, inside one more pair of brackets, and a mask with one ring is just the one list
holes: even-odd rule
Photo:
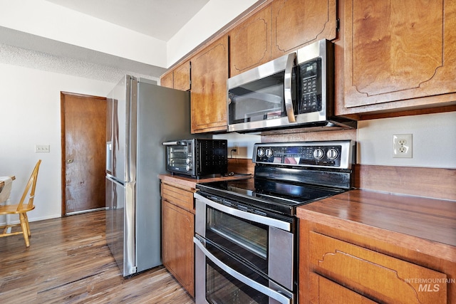
[[190, 137], [190, 93], [138, 82], [136, 260], [138, 272], [160, 265], [162, 142]]

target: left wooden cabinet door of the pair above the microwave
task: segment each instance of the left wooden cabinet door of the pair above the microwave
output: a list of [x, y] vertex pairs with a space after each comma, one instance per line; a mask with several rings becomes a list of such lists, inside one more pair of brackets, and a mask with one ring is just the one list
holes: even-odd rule
[[271, 6], [229, 33], [229, 74], [237, 75], [271, 60]]

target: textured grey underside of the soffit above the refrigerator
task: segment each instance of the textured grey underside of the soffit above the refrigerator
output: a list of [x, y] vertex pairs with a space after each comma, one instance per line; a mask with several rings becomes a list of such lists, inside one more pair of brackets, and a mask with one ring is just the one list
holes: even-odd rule
[[117, 83], [125, 74], [157, 78], [165, 68], [0, 26], [0, 63]]

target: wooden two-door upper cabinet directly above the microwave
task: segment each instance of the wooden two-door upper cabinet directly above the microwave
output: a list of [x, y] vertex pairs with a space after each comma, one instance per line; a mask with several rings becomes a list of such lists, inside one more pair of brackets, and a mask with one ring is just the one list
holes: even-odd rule
[[230, 76], [336, 32], [336, 0], [272, 1], [229, 32]]

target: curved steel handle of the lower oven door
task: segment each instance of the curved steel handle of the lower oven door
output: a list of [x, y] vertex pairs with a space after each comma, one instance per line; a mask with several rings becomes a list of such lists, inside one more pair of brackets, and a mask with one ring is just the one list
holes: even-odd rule
[[274, 300], [279, 301], [279, 303], [282, 304], [291, 304], [292, 303], [292, 298], [293, 294], [289, 292], [288, 290], [272, 290], [271, 288], [268, 288], [264, 285], [261, 285], [258, 282], [253, 281], [250, 278], [247, 278], [247, 276], [244, 276], [242, 273], [239, 273], [235, 271], [234, 269], [230, 268], [226, 264], [224, 264], [222, 261], [220, 261], [218, 258], [216, 258], [212, 253], [210, 253], [202, 244], [202, 242], [197, 239], [196, 236], [193, 237], [193, 242], [198, 246], [198, 248], [204, 253], [207, 258], [209, 258], [212, 262], [214, 262], [219, 268], [222, 268], [223, 271], [228, 273], [230, 276], [236, 278], [237, 280], [241, 281], [242, 283], [249, 285], [250, 287], [254, 288], [255, 290], [258, 290], [260, 293], [263, 293], [264, 295], [269, 296], [269, 298], [273, 298]]

